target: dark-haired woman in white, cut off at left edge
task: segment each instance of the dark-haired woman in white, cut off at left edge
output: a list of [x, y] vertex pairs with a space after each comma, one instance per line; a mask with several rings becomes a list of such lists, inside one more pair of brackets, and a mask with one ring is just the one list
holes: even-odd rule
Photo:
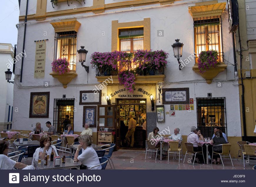
[[7, 156], [9, 150], [8, 141], [0, 141], [0, 169], [35, 169], [24, 163], [16, 162]]

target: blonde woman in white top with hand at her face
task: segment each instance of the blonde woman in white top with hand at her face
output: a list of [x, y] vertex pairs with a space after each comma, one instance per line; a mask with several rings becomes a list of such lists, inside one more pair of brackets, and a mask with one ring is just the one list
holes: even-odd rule
[[[88, 134], [81, 135], [79, 137], [79, 145], [77, 146], [77, 151], [74, 156], [74, 161], [80, 161], [82, 162], [83, 165], [87, 166], [87, 168], [90, 168], [92, 166], [95, 166], [99, 164], [99, 158], [94, 150], [92, 148], [92, 137], [89, 136]], [[82, 148], [82, 154], [78, 156], [79, 150]], [[101, 166], [97, 166], [92, 169], [102, 169]]]

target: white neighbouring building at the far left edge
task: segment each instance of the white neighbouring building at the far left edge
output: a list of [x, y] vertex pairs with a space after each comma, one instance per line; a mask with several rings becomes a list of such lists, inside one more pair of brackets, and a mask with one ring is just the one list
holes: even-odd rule
[[[5, 81], [4, 72], [8, 69], [13, 69], [14, 49], [11, 44], [0, 44], [1, 58], [1, 91], [0, 100], [2, 107], [0, 108], [0, 131], [3, 129], [12, 128], [12, 113], [13, 113], [13, 84]], [[13, 79], [13, 77], [12, 77]], [[12, 80], [10, 80], [12, 81]]]

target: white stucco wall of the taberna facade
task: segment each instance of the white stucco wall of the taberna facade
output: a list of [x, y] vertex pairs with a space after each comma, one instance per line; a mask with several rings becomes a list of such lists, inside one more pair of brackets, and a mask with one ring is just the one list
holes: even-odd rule
[[[87, 1], [86, 1], [87, 2]], [[117, 2], [117, 1], [115, 1]], [[119, 1], [118, 1], [119, 2]], [[180, 1], [181, 2], [181, 1]], [[188, 2], [188, 1], [182, 1]], [[218, 2], [226, 2], [220, 0]], [[105, 3], [113, 3], [108, 0]], [[111, 51], [111, 36], [112, 36], [112, 21], [118, 20], [118, 22], [130, 22], [130, 21], [142, 21], [144, 18], [150, 18], [150, 41], [152, 50], [164, 50], [169, 53], [167, 59], [168, 66], [165, 69], [166, 78], [162, 88], [189, 88], [190, 98], [207, 97], [207, 93], [212, 93], [213, 97], [225, 97], [226, 98], [226, 123], [228, 136], [241, 136], [240, 126], [240, 111], [239, 111], [239, 91], [237, 80], [226, 81], [226, 71], [221, 72], [215, 81], [223, 83], [222, 88], [216, 89], [216, 83], [208, 85], [205, 83], [200, 75], [192, 71], [195, 61], [185, 66], [179, 71], [177, 59], [173, 56], [173, 50], [171, 45], [175, 43], [175, 39], [180, 39], [180, 42], [184, 44], [183, 55], [181, 61], [187, 59], [191, 54], [194, 54], [194, 29], [193, 19], [188, 12], [188, 6], [193, 6], [190, 1], [187, 4], [174, 4], [170, 6], [163, 6], [158, 8], [150, 8], [143, 10], [133, 10], [129, 7], [107, 10], [105, 14], [94, 15], [91, 12], [77, 15], [59, 16], [58, 18], [73, 18], [77, 17], [77, 21], [81, 23], [79, 31], [77, 33], [77, 49], [84, 45], [85, 49], [89, 52], [85, 65], [89, 66], [88, 84], [87, 73], [84, 68], [77, 62], [76, 72], [78, 76], [73, 79], [67, 89], [62, 87], [60, 82], [49, 75], [51, 73], [51, 62], [54, 56], [54, 28], [50, 24], [51, 20], [57, 19], [56, 17], [46, 18], [45, 21], [37, 22], [33, 24], [27, 24], [26, 30], [26, 43], [25, 51], [26, 58], [24, 58], [23, 64], [23, 76], [22, 83], [14, 88], [14, 108], [18, 107], [19, 111], [14, 112], [14, 128], [22, 130], [30, 130], [31, 124], [41, 122], [45, 124], [46, 121], [53, 121], [53, 105], [54, 98], [62, 98], [63, 94], [66, 94], [66, 98], [75, 98], [74, 107], [77, 112], [74, 113], [74, 130], [82, 131], [82, 109], [83, 105], [79, 105], [79, 91], [80, 90], [92, 90], [95, 88], [95, 84], [99, 84], [95, 78], [94, 69], [90, 65], [90, 56], [93, 52], [106, 52]], [[24, 6], [24, 5], [23, 5]], [[32, 4], [31, 4], [32, 6]], [[92, 6], [86, 3], [82, 6]], [[158, 6], [157, 4], [154, 6]], [[52, 8], [51, 4], [47, 3], [47, 11], [57, 11], [68, 9], [66, 2], [58, 5], [57, 8]], [[134, 7], [139, 9], [142, 7], [152, 7], [152, 5]], [[69, 7], [70, 8], [70, 7]], [[125, 11], [114, 14], [106, 14], [107, 12]], [[128, 10], [128, 11], [126, 11]], [[22, 12], [22, 11], [21, 11]], [[93, 16], [89, 16], [93, 15]], [[87, 16], [87, 17], [81, 17]], [[32, 22], [33, 20], [31, 20]], [[35, 21], [35, 20], [34, 20]], [[164, 36], [158, 37], [157, 31], [163, 30]], [[22, 51], [24, 24], [21, 21], [19, 25], [18, 35], [18, 52]], [[105, 35], [102, 33], [104, 32]], [[233, 49], [232, 49], [232, 35], [228, 33], [228, 17], [227, 7], [222, 14], [222, 38], [223, 38], [223, 51], [224, 59], [230, 63], [234, 62]], [[34, 40], [49, 39], [46, 41], [46, 65], [45, 65], [45, 77], [44, 79], [34, 79], [34, 61], [35, 61], [35, 42]], [[227, 64], [227, 62], [225, 61]], [[230, 66], [230, 65], [228, 65]], [[21, 68], [21, 61], [16, 64], [16, 68]], [[17, 83], [19, 82], [19, 75], [16, 76]], [[44, 87], [44, 81], [49, 82], [48, 87]], [[190, 81], [190, 82], [188, 82]], [[158, 88], [158, 87], [157, 87]], [[153, 89], [155, 90], [155, 88]], [[157, 89], [156, 89], [157, 90]], [[29, 118], [29, 98], [30, 92], [43, 92], [50, 91], [50, 106], [49, 106], [49, 118]], [[102, 92], [107, 93], [108, 90], [105, 87]], [[158, 98], [158, 92], [155, 94], [155, 100]], [[20, 99], [22, 97], [23, 99]], [[102, 97], [102, 104], [106, 104], [105, 97]], [[151, 105], [150, 101], [147, 102]], [[159, 104], [159, 103], [157, 103]], [[196, 101], [194, 101], [195, 110], [190, 113], [187, 111], [177, 111], [175, 117], [166, 117], [165, 123], [157, 123], [160, 131], [169, 127], [171, 133], [175, 127], [181, 129], [182, 135], [187, 135], [190, 131], [190, 126], [197, 125], [197, 113], [196, 113]], [[149, 109], [150, 107], [147, 106]], [[165, 105], [165, 111], [168, 111], [170, 105]], [[150, 109], [149, 109], [150, 110]], [[43, 125], [44, 128], [45, 125]], [[96, 131], [96, 128], [93, 129]]]

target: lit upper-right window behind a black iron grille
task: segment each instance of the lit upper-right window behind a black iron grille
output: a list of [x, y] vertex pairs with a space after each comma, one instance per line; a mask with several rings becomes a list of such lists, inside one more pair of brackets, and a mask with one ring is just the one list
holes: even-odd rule
[[195, 62], [201, 51], [218, 51], [218, 62], [223, 62], [221, 16], [194, 18]]

